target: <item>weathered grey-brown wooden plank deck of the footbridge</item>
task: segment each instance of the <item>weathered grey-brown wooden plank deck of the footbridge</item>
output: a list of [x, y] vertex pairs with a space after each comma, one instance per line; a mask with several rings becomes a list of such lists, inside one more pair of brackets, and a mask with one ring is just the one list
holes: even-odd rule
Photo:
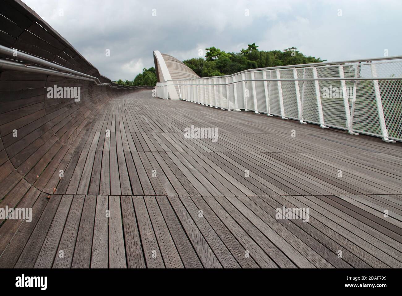
[[[0, 220], [0, 267], [402, 267], [401, 143], [151, 91], [94, 111], [0, 203], [33, 209]], [[218, 140], [185, 139], [191, 125]]]

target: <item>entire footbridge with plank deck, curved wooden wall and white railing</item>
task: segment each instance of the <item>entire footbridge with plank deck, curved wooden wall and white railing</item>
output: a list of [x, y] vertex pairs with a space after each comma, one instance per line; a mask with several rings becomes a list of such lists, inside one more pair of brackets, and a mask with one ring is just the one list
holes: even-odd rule
[[398, 58], [207, 78], [154, 60], [177, 100], [2, 1], [0, 267], [402, 267]]

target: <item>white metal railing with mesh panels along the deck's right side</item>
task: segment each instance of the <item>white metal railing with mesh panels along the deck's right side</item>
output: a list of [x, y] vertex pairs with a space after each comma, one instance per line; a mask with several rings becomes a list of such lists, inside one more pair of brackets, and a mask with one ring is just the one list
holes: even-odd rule
[[158, 82], [156, 95], [402, 141], [402, 56], [246, 70]]

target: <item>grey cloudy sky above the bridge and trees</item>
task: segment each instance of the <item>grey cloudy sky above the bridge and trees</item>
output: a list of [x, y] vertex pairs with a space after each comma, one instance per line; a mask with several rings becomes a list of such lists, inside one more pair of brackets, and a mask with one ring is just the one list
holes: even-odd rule
[[328, 61], [402, 54], [400, 0], [23, 2], [111, 80], [133, 80], [154, 66], [154, 50], [185, 60], [199, 49], [238, 52], [255, 42]]

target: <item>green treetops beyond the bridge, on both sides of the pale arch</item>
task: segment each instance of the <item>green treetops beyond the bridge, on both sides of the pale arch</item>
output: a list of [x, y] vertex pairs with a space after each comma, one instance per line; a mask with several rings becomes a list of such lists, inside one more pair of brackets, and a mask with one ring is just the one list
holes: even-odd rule
[[[219, 48], [206, 48], [205, 58], [191, 58], [183, 61], [199, 77], [211, 77], [221, 75], [231, 75], [243, 70], [287, 66], [296, 64], [309, 64], [325, 62], [321, 58], [305, 56], [295, 47], [281, 50], [264, 51], [258, 50], [255, 43], [248, 44], [248, 48], [240, 52], [225, 52]], [[144, 68], [133, 81], [114, 81], [121, 85], [156, 85], [155, 68]]]

